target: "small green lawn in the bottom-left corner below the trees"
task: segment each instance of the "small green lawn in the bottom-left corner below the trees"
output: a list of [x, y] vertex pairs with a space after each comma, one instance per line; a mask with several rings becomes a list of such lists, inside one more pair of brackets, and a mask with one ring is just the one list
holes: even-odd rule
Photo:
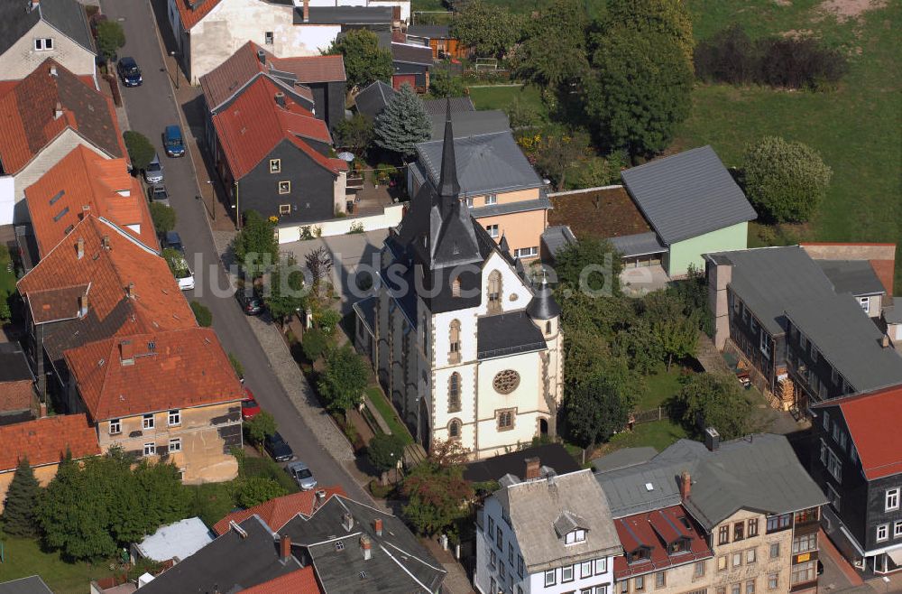
[[0, 581], [27, 578], [39, 574], [56, 594], [87, 592], [90, 580], [112, 575], [108, 563], [68, 563], [58, 552], [42, 552], [37, 541], [2, 536], [4, 562], [0, 563]]

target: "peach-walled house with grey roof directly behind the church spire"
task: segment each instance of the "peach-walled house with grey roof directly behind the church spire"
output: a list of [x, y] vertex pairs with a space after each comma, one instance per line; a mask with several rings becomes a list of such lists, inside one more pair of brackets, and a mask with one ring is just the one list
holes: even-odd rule
[[[455, 136], [454, 144], [460, 194], [469, 213], [495, 241], [506, 237], [514, 257], [538, 257], [551, 203], [511, 132]], [[424, 186], [438, 188], [442, 146], [441, 141], [417, 144], [417, 162], [408, 168], [411, 196]]]

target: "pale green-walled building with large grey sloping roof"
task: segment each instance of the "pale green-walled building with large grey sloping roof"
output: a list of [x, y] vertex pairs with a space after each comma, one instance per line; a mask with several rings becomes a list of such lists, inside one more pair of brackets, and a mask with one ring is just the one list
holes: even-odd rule
[[621, 172], [623, 186], [649, 221], [667, 274], [679, 277], [703, 255], [744, 249], [757, 217], [710, 146]]

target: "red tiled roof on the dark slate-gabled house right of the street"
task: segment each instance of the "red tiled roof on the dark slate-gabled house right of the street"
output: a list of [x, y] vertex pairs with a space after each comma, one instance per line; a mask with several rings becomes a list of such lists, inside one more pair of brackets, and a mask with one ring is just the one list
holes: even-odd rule
[[279, 88], [272, 80], [256, 79], [227, 109], [213, 116], [216, 136], [235, 179], [251, 172], [276, 144], [286, 139], [330, 172], [344, 171], [347, 163], [316, 152], [294, 132], [299, 130], [308, 137], [326, 138], [325, 123], [289, 97], [285, 97], [286, 107], [278, 106], [277, 92]]

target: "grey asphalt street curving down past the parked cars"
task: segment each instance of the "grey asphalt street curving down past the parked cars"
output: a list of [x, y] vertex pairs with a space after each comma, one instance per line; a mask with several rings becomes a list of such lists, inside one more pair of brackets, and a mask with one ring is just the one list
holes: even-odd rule
[[[103, 0], [101, 5], [110, 20], [123, 25], [127, 41], [119, 55], [133, 57], [143, 70], [141, 87], [122, 88], [124, 104], [131, 129], [146, 135], [161, 155], [171, 205], [178, 215], [176, 228], [195, 272], [196, 288], [185, 292], [185, 296], [189, 300], [197, 299], [212, 311], [216, 335], [226, 352], [234, 353], [244, 366], [245, 385], [253, 391], [262, 409], [275, 417], [279, 432], [298, 458], [308, 463], [319, 485], [341, 485], [349, 496], [368, 501], [369, 497], [347, 471], [327, 451], [319, 448], [273, 375], [244, 313], [231, 292], [226, 290], [228, 279], [219, 265], [204, 206], [195, 198], [200, 191], [190, 157], [170, 159], [162, 151], [163, 129], [180, 121], [170, 77], [163, 67], [151, 5], [147, 0]], [[181, 84], [187, 84], [184, 78]], [[198, 162], [198, 167], [202, 166]], [[172, 388], [178, 389], [178, 386]]]

